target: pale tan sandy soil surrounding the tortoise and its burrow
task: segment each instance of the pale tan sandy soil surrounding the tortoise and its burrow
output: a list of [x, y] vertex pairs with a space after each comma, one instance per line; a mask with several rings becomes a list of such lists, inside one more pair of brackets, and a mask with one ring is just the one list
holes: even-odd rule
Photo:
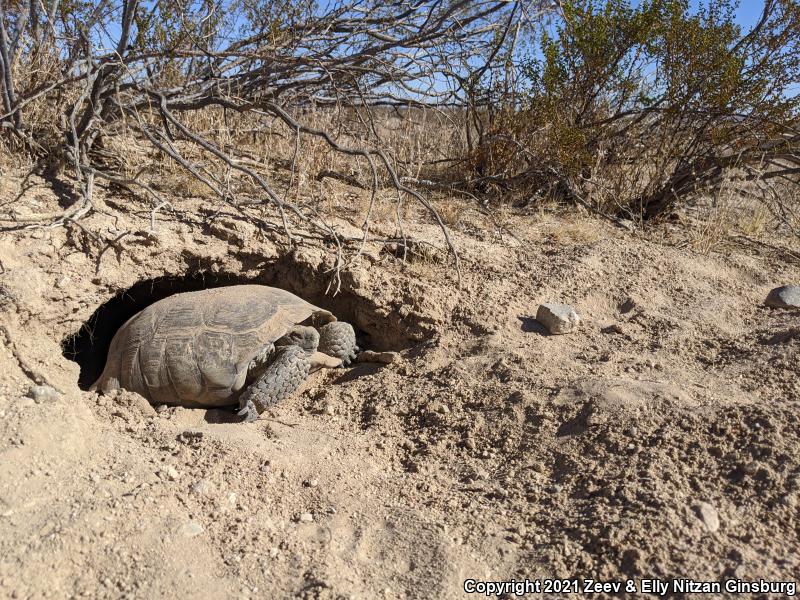
[[[5, 196], [59, 211], [35, 177]], [[515, 238], [473, 211], [454, 234], [460, 289], [437, 255], [370, 248], [331, 297], [322, 252], [184, 206], [156, 233], [146, 207], [109, 197], [81, 226], [0, 237], [0, 596], [800, 578], [800, 312], [763, 305], [800, 281], [791, 256], [699, 254], [588, 218], [509, 216]], [[244, 282], [330, 308], [399, 358], [314, 374], [249, 425], [79, 387], [147, 302]], [[547, 301], [582, 329], [545, 335]]]

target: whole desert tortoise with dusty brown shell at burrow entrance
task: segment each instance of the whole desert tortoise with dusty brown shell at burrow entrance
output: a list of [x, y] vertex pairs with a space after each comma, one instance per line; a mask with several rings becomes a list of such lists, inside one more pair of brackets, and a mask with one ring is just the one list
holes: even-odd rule
[[122, 387], [153, 404], [186, 407], [238, 402], [239, 415], [253, 421], [311, 370], [346, 365], [356, 352], [351, 325], [286, 290], [236, 285], [185, 292], [125, 322], [91, 389]]

